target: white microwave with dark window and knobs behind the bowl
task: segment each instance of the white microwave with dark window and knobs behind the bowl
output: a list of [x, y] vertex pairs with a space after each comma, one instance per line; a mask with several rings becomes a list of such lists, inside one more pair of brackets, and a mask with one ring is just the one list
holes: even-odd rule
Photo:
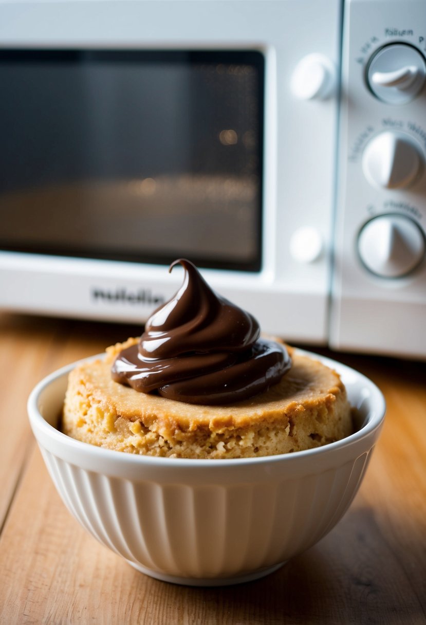
[[0, 307], [426, 355], [426, 2], [0, 4]]

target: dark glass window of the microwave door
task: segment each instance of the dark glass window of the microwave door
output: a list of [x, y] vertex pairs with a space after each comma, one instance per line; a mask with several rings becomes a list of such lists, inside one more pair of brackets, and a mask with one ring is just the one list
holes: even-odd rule
[[0, 247], [258, 270], [263, 63], [0, 51]]

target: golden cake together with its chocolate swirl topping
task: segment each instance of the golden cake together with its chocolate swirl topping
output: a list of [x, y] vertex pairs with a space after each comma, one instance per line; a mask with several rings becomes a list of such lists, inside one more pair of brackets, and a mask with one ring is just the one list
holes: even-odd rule
[[62, 431], [116, 451], [227, 459], [318, 447], [352, 433], [339, 374], [260, 336], [186, 259], [181, 289], [141, 337], [69, 375]]

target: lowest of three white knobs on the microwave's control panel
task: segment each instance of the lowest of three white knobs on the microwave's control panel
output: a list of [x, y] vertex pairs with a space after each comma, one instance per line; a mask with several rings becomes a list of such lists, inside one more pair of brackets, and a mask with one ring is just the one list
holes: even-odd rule
[[362, 227], [358, 251], [367, 269], [377, 276], [405, 276], [424, 258], [425, 237], [410, 217], [380, 215]]

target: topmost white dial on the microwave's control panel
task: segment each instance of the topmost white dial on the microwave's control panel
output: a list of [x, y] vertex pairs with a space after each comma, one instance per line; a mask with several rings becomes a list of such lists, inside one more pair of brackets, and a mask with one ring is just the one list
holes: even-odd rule
[[422, 90], [425, 78], [424, 56], [402, 43], [382, 47], [367, 69], [370, 90], [387, 104], [410, 102]]

